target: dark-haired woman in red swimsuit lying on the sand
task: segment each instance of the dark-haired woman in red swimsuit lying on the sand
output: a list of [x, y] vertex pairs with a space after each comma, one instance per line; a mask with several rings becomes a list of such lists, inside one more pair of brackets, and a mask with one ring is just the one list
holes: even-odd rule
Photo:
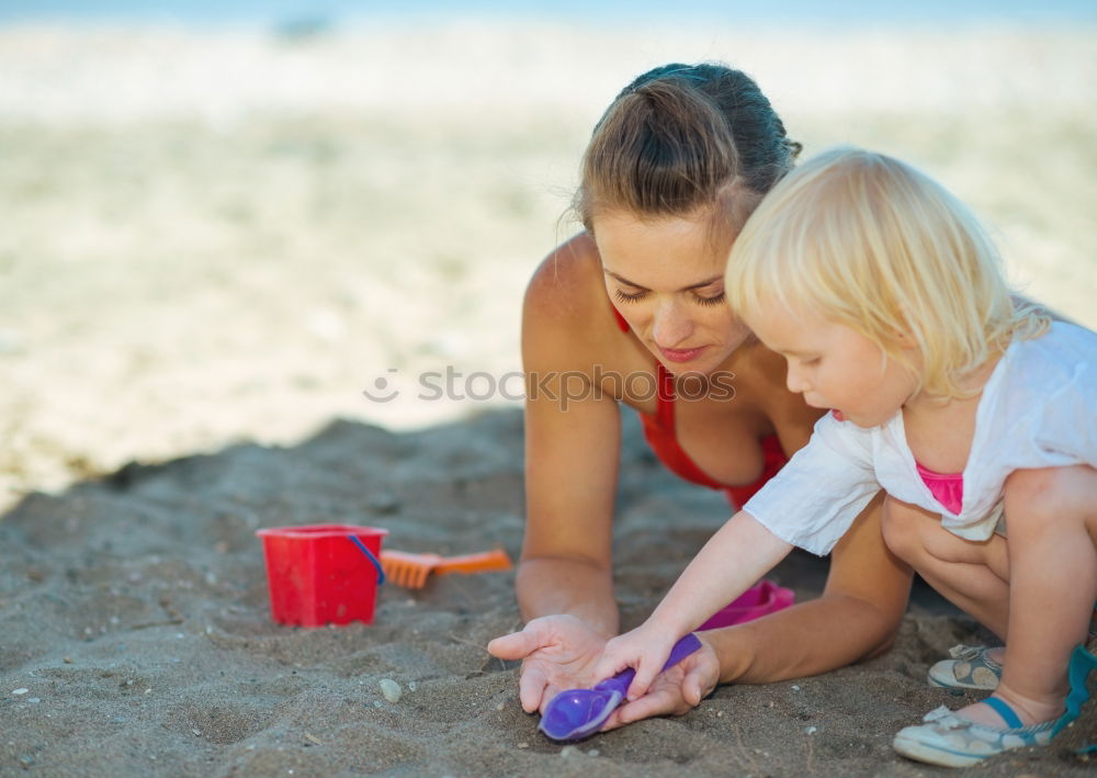
[[[545, 259], [524, 302], [517, 594], [529, 622], [489, 650], [523, 661], [527, 711], [597, 680], [592, 666], [618, 633], [618, 404], [640, 413], [674, 472], [736, 507], [811, 437], [821, 411], [788, 391], [783, 359], [750, 337], [723, 292], [735, 235], [796, 151], [757, 84], [717, 65], [644, 74], [595, 128], [575, 203], [586, 230]], [[884, 546], [879, 508], [834, 550], [822, 597], [702, 633], [701, 651], [607, 726], [685, 712], [716, 683], [811, 675], [885, 651], [911, 572]]]

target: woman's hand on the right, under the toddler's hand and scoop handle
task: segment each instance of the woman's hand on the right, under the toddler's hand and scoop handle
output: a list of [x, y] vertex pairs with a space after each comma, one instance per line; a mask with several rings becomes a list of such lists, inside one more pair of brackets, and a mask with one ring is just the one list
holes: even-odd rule
[[602, 730], [612, 730], [655, 715], [681, 715], [697, 708], [720, 681], [720, 661], [704, 633], [701, 647], [655, 677], [643, 697], [618, 708]]

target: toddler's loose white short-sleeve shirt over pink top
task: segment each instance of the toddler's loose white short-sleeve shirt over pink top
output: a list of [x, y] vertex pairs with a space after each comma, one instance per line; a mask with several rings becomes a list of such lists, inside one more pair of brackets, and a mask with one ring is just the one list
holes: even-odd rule
[[918, 475], [902, 411], [870, 429], [823, 416], [807, 446], [744, 510], [782, 540], [822, 555], [883, 488], [939, 512], [961, 538], [986, 540], [1010, 473], [1072, 464], [1097, 466], [1097, 335], [1055, 322], [1039, 338], [1010, 343], [983, 387], [959, 514]]

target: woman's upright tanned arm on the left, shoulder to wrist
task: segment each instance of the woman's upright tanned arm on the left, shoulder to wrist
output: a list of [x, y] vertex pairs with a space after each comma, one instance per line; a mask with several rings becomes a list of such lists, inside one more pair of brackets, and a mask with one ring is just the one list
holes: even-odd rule
[[[527, 518], [517, 594], [527, 620], [567, 613], [609, 638], [618, 631], [611, 544], [621, 421], [615, 398], [590, 380], [592, 354], [604, 352], [591, 325], [613, 326], [592, 251], [586, 236], [565, 244], [525, 294]], [[602, 309], [604, 323], [592, 323]]]

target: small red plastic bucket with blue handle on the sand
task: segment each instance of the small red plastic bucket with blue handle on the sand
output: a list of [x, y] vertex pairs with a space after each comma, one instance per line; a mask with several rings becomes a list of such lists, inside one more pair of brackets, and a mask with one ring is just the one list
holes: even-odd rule
[[373, 621], [377, 584], [384, 580], [377, 557], [388, 530], [309, 525], [256, 534], [263, 541], [274, 621], [301, 627]]

